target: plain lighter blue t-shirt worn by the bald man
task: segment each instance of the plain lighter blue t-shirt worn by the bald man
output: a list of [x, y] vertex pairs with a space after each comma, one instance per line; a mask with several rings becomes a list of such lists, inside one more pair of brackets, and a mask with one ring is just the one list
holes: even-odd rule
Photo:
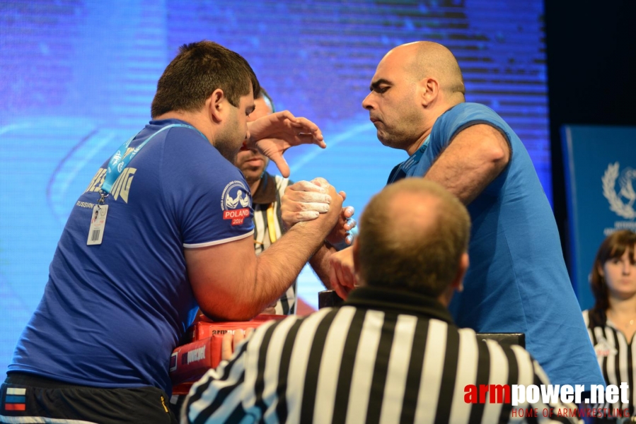
[[[416, 152], [403, 163], [405, 174], [426, 174], [453, 137], [475, 124], [502, 131], [511, 158], [467, 206], [473, 223], [470, 266], [463, 292], [449, 307], [453, 319], [480, 332], [525, 333], [527, 350], [553, 384], [603, 384], [552, 209], [528, 151], [510, 126], [484, 105], [456, 105], [436, 120], [419, 161]], [[397, 167], [394, 171], [397, 175]]]

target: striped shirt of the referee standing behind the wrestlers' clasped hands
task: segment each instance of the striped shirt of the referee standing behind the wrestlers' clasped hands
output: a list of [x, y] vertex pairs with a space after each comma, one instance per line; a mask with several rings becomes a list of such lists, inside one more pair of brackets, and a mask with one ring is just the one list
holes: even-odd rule
[[[260, 254], [267, 247], [270, 247], [272, 242], [278, 240], [283, 234], [280, 198], [289, 184], [293, 184], [293, 182], [287, 178], [270, 175], [265, 172], [260, 179], [258, 189], [252, 194], [254, 249], [256, 254]], [[267, 218], [268, 213], [270, 213], [269, 219]], [[270, 227], [273, 228], [271, 233]], [[275, 310], [276, 312], [274, 313], [279, 315], [296, 313], [296, 281], [276, 302]]]

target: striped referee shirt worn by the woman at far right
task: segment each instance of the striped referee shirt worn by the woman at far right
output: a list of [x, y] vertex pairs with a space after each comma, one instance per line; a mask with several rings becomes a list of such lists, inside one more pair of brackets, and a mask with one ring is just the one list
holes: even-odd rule
[[629, 342], [623, 331], [617, 329], [606, 314], [599, 316], [591, 310], [585, 310], [583, 320], [605, 382], [616, 386], [623, 382], [628, 383], [629, 404], [623, 404], [619, 399], [615, 404], [606, 403], [600, 407], [612, 410], [629, 408], [632, 416], [636, 405], [636, 394], [632, 390], [636, 381], [636, 343], [633, 343], [633, 339]]

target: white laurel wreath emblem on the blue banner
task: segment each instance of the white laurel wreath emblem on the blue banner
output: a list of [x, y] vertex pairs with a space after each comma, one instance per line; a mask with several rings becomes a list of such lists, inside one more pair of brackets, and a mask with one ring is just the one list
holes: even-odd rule
[[[636, 211], [633, 205], [636, 201], [636, 192], [634, 192], [632, 182], [636, 179], [636, 170], [627, 167], [619, 174], [619, 166], [618, 162], [610, 163], [605, 170], [605, 174], [601, 178], [603, 196], [608, 200], [611, 211], [623, 218], [634, 219]], [[617, 179], [620, 187], [618, 193], [615, 189]]]

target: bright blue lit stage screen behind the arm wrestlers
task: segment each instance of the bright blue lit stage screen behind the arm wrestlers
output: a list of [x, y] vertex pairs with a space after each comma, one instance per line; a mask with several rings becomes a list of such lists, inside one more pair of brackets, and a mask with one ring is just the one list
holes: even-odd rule
[[[383, 55], [415, 40], [456, 54], [467, 100], [509, 122], [550, 198], [544, 37], [541, 0], [0, 1], [0, 373], [71, 206], [149, 120], [183, 43], [242, 54], [279, 110], [320, 125], [328, 148], [289, 151], [292, 179], [326, 177], [359, 214], [406, 157], [381, 146], [361, 102]], [[301, 297], [316, 305], [318, 290], [303, 271]]]

